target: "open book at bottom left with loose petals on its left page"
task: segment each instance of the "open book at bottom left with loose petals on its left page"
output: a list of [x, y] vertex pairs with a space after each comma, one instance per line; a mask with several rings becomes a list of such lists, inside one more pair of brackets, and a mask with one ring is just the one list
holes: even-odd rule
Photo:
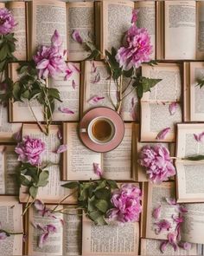
[[[48, 208], [54, 206], [47, 205]], [[70, 207], [70, 206], [69, 206]], [[41, 216], [34, 207], [29, 208], [25, 218], [26, 232], [28, 240], [26, 242], [26, 253], [28, 255], [80, 255], [81, 254], [81, 214], [74, 207], [69, 208], [70, 214], [53, 213], [54, 218]], [[62, 222], [64, 225], [62, 225]], [[48, 240], [40, 248], [37, 244], [41, 231], [32, 224], [42, 226], [52, 224], [56, 227], [56, 233], [49, 233]]]

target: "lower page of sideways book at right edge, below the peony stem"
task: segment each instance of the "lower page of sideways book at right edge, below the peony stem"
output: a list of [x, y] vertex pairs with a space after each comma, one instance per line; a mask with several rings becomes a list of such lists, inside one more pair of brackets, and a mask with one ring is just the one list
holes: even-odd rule
[[175, 161], [179, 202], [204, 202], [204, 163]]

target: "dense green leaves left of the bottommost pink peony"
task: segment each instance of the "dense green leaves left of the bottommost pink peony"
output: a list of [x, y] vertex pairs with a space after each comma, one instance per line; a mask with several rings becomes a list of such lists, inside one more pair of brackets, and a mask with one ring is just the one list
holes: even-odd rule
[[100, 181], [69, 182], [62, 185], [70, 189], [78, 189], [78, 206], [84, 209], [90, 220], [96, 225], [105, 225], [105, 216], [112, 208], [112, 189], [118, 188], [116, 181], [102, 179]]

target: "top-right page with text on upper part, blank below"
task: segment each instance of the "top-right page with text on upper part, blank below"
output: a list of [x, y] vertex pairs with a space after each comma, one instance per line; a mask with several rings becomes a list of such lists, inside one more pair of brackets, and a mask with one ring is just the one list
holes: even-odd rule
[[195, 1], [165, 1], [165, 59], [195, 58]]

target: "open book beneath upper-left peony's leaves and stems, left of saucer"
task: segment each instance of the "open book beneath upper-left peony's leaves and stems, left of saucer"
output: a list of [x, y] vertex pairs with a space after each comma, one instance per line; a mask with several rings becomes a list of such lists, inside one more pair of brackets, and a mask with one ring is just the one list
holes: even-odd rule
[[[69, 64], [74, 65], [80, 70], [80, 63], [75, 62]], [[17, 74], [18, 63], [10, 63], [9, 73], [10, 78], [16, 82], [19, 79]], [[61, 95], [61, 101], [55, 100], [53, 121], [78, 121], [80, 113], [80, 72], [75, 71], [67, 81], [65, 75], [60, 74], [56, 77], [48, 78], [47, 86], [49, 88], [58, 89]], [[74, 86], [73, 86], [74, 83]], [[73, 111], [73, 114], [64, 113], [63, 108], [68, 108]], [[44, 121], [43, 108], [40, 103], [35, 99], [30, 102], [12, 102], [10, 101], [10, 121], [35, 121], [35, 117], [38, 121]], [[35, 115], [35, 117], [34, 117]]]

